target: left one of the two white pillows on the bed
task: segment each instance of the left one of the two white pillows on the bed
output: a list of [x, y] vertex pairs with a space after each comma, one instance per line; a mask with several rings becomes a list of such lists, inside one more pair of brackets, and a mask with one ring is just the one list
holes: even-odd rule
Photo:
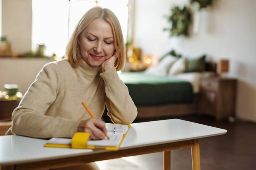
[[168, 55], [162, 61], [160, 61], [158, 65], [147, 68], [144, 73], [157, 76], [166, 76], [168, 70], [176, 60], [177, 57]]

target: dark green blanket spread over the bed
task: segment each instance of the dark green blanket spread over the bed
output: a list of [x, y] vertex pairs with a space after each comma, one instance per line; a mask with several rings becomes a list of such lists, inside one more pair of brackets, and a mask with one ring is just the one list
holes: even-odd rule
[[189, 82], [144, 72], [122, 72], [119, 77], [128, 87], [136, 106], [193, 102], [193, 89]]

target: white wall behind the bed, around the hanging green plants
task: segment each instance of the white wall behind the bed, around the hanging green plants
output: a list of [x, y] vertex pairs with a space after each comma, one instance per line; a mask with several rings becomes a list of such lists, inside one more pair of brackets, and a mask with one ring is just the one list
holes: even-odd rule
[[187, 57], [207, 53], [212, 61], [230, 60], [230, 77], [236, 77], [238, 118], [256, 122], [256, 1], [214, 0], [207, 11], [199, 13], [200, 29], [190, 38], [169, 38], [163, 27], [164, 15], [172, 5], [189, 4], [188, 0], [136, 0], [135, 46], [142, 54], [155, 58], [174, 48]]

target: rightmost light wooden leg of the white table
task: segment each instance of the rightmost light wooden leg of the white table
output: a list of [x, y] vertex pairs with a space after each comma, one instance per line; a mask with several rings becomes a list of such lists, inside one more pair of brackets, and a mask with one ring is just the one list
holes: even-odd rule
[[200, 150], [199, 150], [199, 140], [198, 139], [194, 139], [194, 146], [191, 147], [191, 157], [192, 157], [193, 170], [201, 170]]

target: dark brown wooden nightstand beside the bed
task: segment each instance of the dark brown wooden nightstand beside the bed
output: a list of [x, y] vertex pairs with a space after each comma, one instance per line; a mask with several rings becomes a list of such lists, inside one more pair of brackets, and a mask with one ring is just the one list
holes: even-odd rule
[[201, 79], [199, 113], [215, 116], [217, 120], [235, 115], [237, 79], [207, 77]]

